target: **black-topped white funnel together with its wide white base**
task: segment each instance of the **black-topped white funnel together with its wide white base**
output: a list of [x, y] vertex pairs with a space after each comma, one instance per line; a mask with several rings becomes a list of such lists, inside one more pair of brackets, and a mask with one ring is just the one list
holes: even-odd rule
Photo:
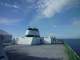
[[40, 34], [37, 28], [28, 28], [24, 37], [17, 39], [17, 44], [35, 45], [40, 44]]

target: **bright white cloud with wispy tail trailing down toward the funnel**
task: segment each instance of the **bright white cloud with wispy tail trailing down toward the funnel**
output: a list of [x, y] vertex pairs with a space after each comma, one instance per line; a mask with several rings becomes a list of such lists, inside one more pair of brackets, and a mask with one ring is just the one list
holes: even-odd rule
[[[31, 21], [31, 25], [40, 23], [44, 18], [49, 18], [54, 16], [56, 13], [61, 12], [61, 10], [68, 5], [70, 0], [39, 0], [35, 5], [38, 11], [36, 18]], [[39, 21], [40, 20], [40, 21]], [[54, 26], [56, 27], [56, 26]]]

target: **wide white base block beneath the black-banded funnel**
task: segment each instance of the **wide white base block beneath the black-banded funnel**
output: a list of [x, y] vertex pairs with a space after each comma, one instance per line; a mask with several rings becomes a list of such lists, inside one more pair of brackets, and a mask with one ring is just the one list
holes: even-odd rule
[[40, 44], [40, 38], [38, 38], [38, 37], [18, 38], [16, 43], [17, 44], [26, 44], [26, 45]]

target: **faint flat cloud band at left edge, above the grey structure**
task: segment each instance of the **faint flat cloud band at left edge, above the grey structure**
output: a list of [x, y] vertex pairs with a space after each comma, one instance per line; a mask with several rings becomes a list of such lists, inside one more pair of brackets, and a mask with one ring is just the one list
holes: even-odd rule
[[0, 24], [3, 24], [3, 25], [14, 24], [14, 23], [17, 23], [20, 21], [21, 20], [19, 20], [19, 19], [0, 18]]

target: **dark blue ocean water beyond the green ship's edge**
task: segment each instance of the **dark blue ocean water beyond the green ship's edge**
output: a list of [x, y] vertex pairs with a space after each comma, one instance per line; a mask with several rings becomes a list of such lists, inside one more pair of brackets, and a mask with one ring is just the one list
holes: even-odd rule
[[80, 56], [80, 39], [63, 39]]

